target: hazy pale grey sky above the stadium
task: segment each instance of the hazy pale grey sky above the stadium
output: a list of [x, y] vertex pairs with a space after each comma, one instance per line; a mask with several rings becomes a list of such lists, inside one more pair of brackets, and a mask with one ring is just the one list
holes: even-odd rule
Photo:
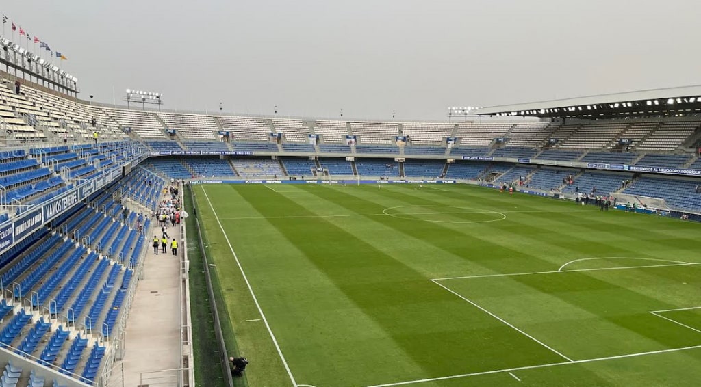
[[701, 83], [692, 0], [4, 0], [0, 12], [69, 58], [83, 99], [108, 103], [130, 87], [172, 109], [445, 120], [447, 106]]

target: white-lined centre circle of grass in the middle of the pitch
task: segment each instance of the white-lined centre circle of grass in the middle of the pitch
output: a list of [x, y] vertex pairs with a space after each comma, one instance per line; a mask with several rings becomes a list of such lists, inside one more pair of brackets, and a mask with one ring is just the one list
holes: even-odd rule
[[506, 215], [498, 211], [431, 204], [388, 207], [382, 213], [397, 219], [431, 223], [488, 223], [506, 219]]

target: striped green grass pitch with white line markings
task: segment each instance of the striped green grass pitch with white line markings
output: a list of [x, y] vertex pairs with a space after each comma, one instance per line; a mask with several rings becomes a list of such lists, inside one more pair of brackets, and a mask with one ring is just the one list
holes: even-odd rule
[[701, 380], [700, 224], [467, 185], [194, 189], [250, 386]]

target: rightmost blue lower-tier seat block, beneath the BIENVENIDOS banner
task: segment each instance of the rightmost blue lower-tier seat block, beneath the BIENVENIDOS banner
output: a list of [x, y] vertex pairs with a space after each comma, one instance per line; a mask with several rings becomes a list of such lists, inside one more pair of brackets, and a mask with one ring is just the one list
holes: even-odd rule
[[643, 176], [631, 183], [623, 193], [646, 197], [660, 197], [674, 209], [681, 211], [699, 211], [701, 208], [701, 194], [696, 193], [695, 180], [682, 180], [674, 178], [658, 178]]

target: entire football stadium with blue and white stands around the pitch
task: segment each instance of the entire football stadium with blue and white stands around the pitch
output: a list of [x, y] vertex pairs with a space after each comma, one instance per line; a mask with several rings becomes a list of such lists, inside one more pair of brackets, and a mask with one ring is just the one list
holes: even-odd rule
[[701, 86], [430, 121], [183, 112], [93, 101], [15, 16], [0, 386], [701, 380]]

